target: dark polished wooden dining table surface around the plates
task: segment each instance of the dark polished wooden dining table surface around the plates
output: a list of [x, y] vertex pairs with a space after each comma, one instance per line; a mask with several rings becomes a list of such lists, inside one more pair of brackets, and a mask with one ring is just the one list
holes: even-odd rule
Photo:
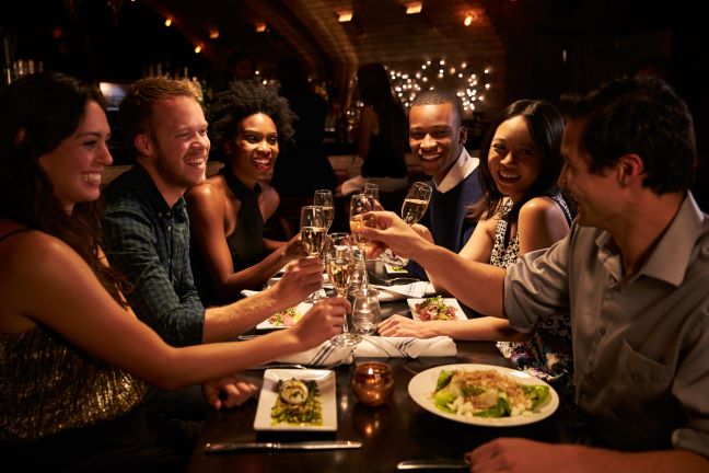
[[[402, 313], [406, 303], [385, 304], [384, 313]], [[491, 342], [457, 342], [455, 358], [388, 358], [395, 377], [391, 401], [369, 407], [354, 397], [350, 379], [354, 366], [335, 369], [337, 377], [336, 432], [256, 432], [253, 428], [257, 400], [214, 412], [205, 423], [188, 465], [189, 472], [392, 472], [407, 459], [456, 459], [497, 437], [526, 437], [549, 442], [568, 441], [560, 411], [536, 424], [520, 427], [479, 427], [439, 417], [416, 404], [408, 383], [418, 372], [451, 364], [486, 364], [509, 367]], [[358, 358], [357, 362], [372, 358]], [[263, 371], [247, 371], [260, 383]], [[358, 450], [247, 452], [206, 454], [206, 442], [357, 440]]]

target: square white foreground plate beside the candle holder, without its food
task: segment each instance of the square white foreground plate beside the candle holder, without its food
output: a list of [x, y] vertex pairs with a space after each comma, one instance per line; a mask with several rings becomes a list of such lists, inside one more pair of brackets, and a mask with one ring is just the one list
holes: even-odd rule
[[[279, 396], [278, 381], [289, 379], [314, 380], [321, 391], [323, 404], [322, 426], [299, 426], [292, 424], [271, 425], [270, 412]], [[264, 371], [264, 387], [258, 397], [254, 430], [337, 430], [337, 405], [335, 404], [335, 371], [315, 369], [267, 369]]]

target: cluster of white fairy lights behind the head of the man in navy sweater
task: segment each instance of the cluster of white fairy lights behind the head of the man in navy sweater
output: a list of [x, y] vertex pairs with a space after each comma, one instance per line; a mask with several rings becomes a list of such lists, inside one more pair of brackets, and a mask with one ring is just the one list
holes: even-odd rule
[[454, 61], [445, 58], [429, 59], [414, 72], [388, 68], [392, 92], [408, 109], [416, 96], [427, 90], [445, 88], [455, 90], [463, 102], [465, 112], [474, 112], [479, 102], [485, 101], [485, 92], [490, 89], [490, 68], [478, 73], [467, 61]]

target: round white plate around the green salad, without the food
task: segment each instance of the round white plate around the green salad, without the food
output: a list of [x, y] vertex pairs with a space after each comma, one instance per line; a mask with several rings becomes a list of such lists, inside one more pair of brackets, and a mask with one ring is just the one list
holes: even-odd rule
[[[543, 384], [549, 387], [550, 399], [549, 401], [547, 401], [547, 403], [544, 406], [542, 406], [542, 408], [538, 412], [532, 414], [522, 414], [514, 417], [498, 417], [498, 418], [474, 417], [474, 416], [465, 416], [461, 414], [446, 413], [441, 411], [435, 406], [435, 404], [433, 404], [431, 394], [435, 390], [435, 382], [438, 381], [438, 377], [441, 370], [451, 371], [453, 369], [463, 369], [467, 371], [493, 369], [496, 371], [501, 372], [502, 374], [508, 374], [514, 378], [514, 380], [520, 384]], [[532, 424], [549, 417], [551, 414], [554, 414], [554, 412], [559, 406], [559, 395], [554, 390], [554, 388], [551, 388], [546, 382], [542, 381], [538, 378], [533, 377], [532, 374], [527, 374], [525, 372], [515, 369], [503, 368], [503, 367], [498, 367], [492, 365], [445, 365], [445, 366], [427, 369], [426, 371], [421, 371], [420, 373], [411, 378], [411, 381], [409, 381], [408, 391], [411, 399], [418, 405], [420, 405], [425, 409], [438, 416], [451, 420], [464, 423], [464, 424], [472, 424], [472, 425], [479, 425], [479, 426], [510, 427], [510, 426]]]

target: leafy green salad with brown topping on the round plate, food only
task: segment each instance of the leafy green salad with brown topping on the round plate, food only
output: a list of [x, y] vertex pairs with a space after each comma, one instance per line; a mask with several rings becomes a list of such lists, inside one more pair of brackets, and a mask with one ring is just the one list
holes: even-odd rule
[[433, 392], [433, 404], [439, 409], [475, 417], [530, 414], [549, 399], [549, 387], [521, 384], [496, 370], [442, 370]]

